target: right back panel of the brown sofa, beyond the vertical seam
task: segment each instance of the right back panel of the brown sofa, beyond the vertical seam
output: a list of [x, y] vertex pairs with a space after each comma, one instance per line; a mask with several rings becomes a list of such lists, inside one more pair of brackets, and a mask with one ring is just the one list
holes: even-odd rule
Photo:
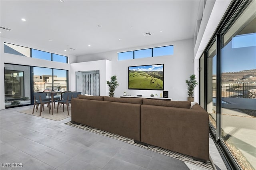
[[209, 160], [208, 113], [192, 109], [141, 106], [141, 141]]

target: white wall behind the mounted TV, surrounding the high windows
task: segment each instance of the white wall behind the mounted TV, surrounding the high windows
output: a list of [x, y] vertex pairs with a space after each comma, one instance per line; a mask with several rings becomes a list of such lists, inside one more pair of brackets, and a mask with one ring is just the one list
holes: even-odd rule
[[[118, 52], [158, 47], [164, 45], [174, 45], [174, 55], [117, 61]], [[84, 62], [100, 59], [108, 59], [112, 61], [112, 75], [117, 76], [117, 80], [119, 83], [119, 86], [115, 91], [115, 97], [123, 95], [124, 91], [128, 95], [150, 96], [150, 94], [158, 94], [159, 96], [160, 93], [163, 93], [163, 91], [128, 90], [128, 67], [136, 65], [151, 65], [164, 63], [164, 91], [169, 91], [169, 97], [172, 97], [173, 100], [186, 101], [188, 95], [186, 92], [187, 90], [185, 80], [189, 78], [189, 75], [194, 73], [194, 64], [192, 62], [193, 51], [193, 40], [189, 39], [176, 42], [148, 45], [143, 47], [120, 49], [118, 51], [109, 51], [92, 55], [84, 55], [77, 57], [77, 61]], [[86, 68], [86, 70], [91, 69]], [[74, 73], [72, 73], [72, 76], [73, 75]], [[110, 78], [110, 76], [111, 75], [109, 75], [108, 78]]]

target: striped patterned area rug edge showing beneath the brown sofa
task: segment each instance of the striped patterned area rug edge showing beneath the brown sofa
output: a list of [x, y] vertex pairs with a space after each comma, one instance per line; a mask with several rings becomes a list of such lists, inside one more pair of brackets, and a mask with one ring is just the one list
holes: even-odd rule
[[118, 134], [113, 134], [113, 133], [110, 133], [110, 132], [106, 132], [104, 130], [99, 130], [97, 128], [88, 127], [86, 125], [81, 125], [81, 124], [76, 125], [76, 124], [73, 124], [71, 122], [68, 122], [68, 123], [65, 123], [65, 124], [70, 125], [72, 127], [81, 128], [83, 130], [87, 130], [87, 131], [90, 131], [90, 132], [94, 132], [94, 133], [97, 133], [97, 134], [101, 134], [103, 136], [107, 136], [107, 137], [110, 137], [110, 138], [121, 140], [123, 142], [127, 142], [129, 144], [133, 144], [133, 145], [139, 146], [141, 148], [145, 148], [145, 149], [148, 149], [148, 150], [151, 150], [151, 151], [154, 151], [154, 152], [158, 152], [160, 154], [164, 154], [166, 156], [170, 156], [172, 158], [176, 158], [176, 159], [181, 160], [183, 162], [194, 164], [194, 165], [200, 166], [202, 168], [206, 168], [206, 169], [209, 169], [209, 170], [216, 170], [210, 155], [209, 155], [210, 160], [208, 160], [206, 163], [204, 163], [204, 162], [200, 162], [200, 161], [197, 161], [197, 160], [193, 160], [192, 156], [188, 156], [188, 155], [185, 155], [185, 154], [180, 154], [178, 152], [173, 152], [171, 150], [160, 148], [160, 147], [157, 147], [157, 146], [152, 146], [152, 145], [144, 146], [142, 144], [137, 144], [137, 143], [134, 143], [134, 140], [131, 139], [131, 138], [126, 138], [124, 136], [120, 136]]

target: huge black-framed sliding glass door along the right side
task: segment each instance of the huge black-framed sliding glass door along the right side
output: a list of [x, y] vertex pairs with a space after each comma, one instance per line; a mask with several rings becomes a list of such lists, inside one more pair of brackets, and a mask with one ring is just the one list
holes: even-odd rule
[[255, 7], [256, 1], [232, 1], [200, 58], [207, 72], [200, 73], [200, 105], [232, 169], [256, 169]]

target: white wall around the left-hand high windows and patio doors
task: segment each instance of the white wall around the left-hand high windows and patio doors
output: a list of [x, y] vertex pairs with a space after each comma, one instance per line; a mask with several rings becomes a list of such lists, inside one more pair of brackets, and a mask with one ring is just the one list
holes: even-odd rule
[[[48, 61], [48, 60], [42, 60], [37, 58], [30, 58], [30, 57], [24, 57], [20, 55], [14, 55], [9, 53], [4, 53], [4, 42], [12, 43], [24, 47], [39, 49], [44, 51], [45, 49], [40, 49], [40, 47], [37, 47], [35, 45], [30, 44], [23, 44], [22, 42], [16, 42], [15, 40], [9, 40], [6, 38], [1, 38], [0, 41], [0, 110], [5, 109], [4, 107], [4, 63], [10, 63], [10, 64], [19, 64], [19, 65], [28, 65], [28, 66], [36, 66], [36, 67], [48, 67], [48, 68], [54, 68], [54, 69], [65, 69], [70, 70], [70, 64], [68, 63], [60, 63], [56, 61]], [[47, 50], [45, 50], [47, 51]], [[52, 53], [57, 53], [59, 55], [65, 55], [65, 53], [58, 53], [56, 51], [49, 51]], [[69, 57], [70, 62], [74, 62], [76, 60], [76, 56]], [[71, 84], [70, 81], [70, 73], [69, 73], [69, 85]], [[73, 83], [73, 82], [72, 82]]]

